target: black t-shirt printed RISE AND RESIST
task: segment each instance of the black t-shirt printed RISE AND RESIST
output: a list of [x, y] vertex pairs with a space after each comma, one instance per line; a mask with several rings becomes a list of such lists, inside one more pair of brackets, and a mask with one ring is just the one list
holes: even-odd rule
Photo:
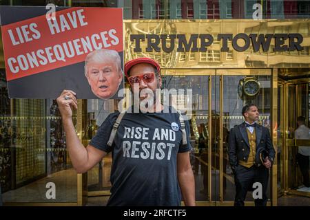
[[102, 151], [112, 151], [107, 206], [180, 206], [176, 157], [192, 148], [188, 121], [187, 145], [182, 146], [178, 113], [125, 113], [110, 147], [107, 141], [118, 115], [107, 116], [90, 141]]

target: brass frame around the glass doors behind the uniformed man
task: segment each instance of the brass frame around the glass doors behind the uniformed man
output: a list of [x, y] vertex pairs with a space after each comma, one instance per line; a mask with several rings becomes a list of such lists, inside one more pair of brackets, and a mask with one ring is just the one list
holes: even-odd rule
[[[207, 72], [207, 73], [206, 73]], [[271, 76], [271, 137], [273, 146], [277, 146], [277, 118], [278, 118], [278, 69], [161, 69], [161, 74], [163, 76], [209, 76], [208, 86], [209, 86], [209, 101], [208, 101], [208, 129], [209, 136], [212, 137], [212, 128], [211, 128], [211, 100], [212, 100], [212, 77], [219, 76], [220, 79], [220, 134], [219, 134], [219, 153], [220, 153], [220, 195], [219, 201], [212, 201], [212, 179], [211, 179], [211, 159], [212, 159], [212, 148], [211, 148], [211, 138], [208, 140], [208, 195], [207, 201], [196, 201], [197, 206], [234, 206], [234, 201], [223, 201], [223, 77], [224, 76], [251, 76], [251, 75], [269, 75]], [[277, 191], [277, 158], [275, 158], [273, 168], [271, 170], [271, 201], [267, 202], [267, 206], [277, 206], [278, 204], [278, 191]], [[254, 201], [245, 202], [246, 206], [254, 206]]]

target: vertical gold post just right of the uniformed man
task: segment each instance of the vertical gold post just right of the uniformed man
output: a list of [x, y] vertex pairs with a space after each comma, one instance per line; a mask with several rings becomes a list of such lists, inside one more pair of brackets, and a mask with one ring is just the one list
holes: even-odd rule
[[[271, 111], [271, 137], [273, 148], [276, 151], [278, 149], [278, 69], [272, 70], [271, 75], [271, 91], [272, 91], [272, 111]], [[277, 184], [277, 175], [278, 175], [278, 158], [275, 156], [273, 161], [273, 166], [271, 170], [271, 205], [278, 205], [278, 184]]]

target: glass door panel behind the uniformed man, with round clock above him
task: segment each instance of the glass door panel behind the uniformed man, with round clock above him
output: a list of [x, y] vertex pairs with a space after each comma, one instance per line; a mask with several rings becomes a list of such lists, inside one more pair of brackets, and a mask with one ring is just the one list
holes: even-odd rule
[[[249, 76], [249, 75], [248, 75]], [[254, 75], [250, 75], [253, 77]], [[258, 124], [262, 126], [266, 126], [270, 129], [271, 127], [271, 76], [259, 74], [256, 77], [258, 82], [260, 83], [260, 89], [257, 96], [254, 98], [243, 98], [243, 100], [238, 95], [238, 84], [239, 80], [242, 78], [247, 77], [247, 75], [233, 75], [229, 74], [229, 76], [221, 76], [223, 77], [222, 85], [222, 92], [223, 95], [221, 96], [223, 99], [223, 112], [220, 113], [221, 121], [223, 128], [222, 137], [220, 138], [223, 146], [223, 157], [221, 157], [220, 163], [223, 167], [223, 172], [221, 172], [222, 177], [222, 186], [223, 188], [223, 197], [221, 197], [218, 201], [234, 201], [236, 188], [234, 184], [234, 175], [231, 172], [231, 168], [229, 165], [228, 153], [227, 153], [227, 141], [229, 137], [230, 129], [234, 128], [234, 126], [241, 124], [244, 122], [244, 118], [242, 116], [242, 107], [248, 103], [254, 103], [258, 106], [258, 110], [260, 112], [260, 119]], [[270, 182], [271, 176], [269, 175], [269, 186], [267, 195], [269, 199], [271, 198], [270, 194]], [[223, 199], [222, 199], [223, 198]], [[247, 193], [247, 198], [245, 201], [254, 201], [251, 192]], [[232, 204], [231, 204], [232, 205]]]

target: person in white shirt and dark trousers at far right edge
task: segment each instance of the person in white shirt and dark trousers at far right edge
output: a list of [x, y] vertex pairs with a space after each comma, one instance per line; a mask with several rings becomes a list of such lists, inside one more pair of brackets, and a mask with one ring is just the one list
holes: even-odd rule
[[[305, 118], [302, 116], [297, 118], [298, 129], [295, 131], [295, 138], [310, 140], [310, 129], [304, 124], [304, 120]], [[309, 157], [310, 146], [298, 146], [297, 162], [302, 173], [302, 184], [304, 184], [298, 191], [310, 192]]]

